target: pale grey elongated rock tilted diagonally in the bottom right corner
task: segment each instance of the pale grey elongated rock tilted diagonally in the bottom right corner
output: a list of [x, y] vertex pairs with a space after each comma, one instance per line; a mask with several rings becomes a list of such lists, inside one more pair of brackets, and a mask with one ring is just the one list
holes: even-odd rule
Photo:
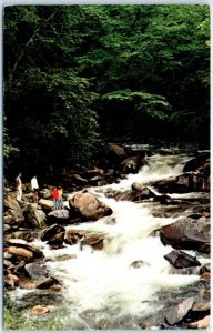
[[186, 316], [189, 311], [192, 309], [193, 303], [194, 303], [194, 299], [190, 297], [183, 301], [182, 303], [180, 303], [178, 306], [171, 309], [165, 316], [165, 322], [169, 325], [174, 325], [181, 322]]

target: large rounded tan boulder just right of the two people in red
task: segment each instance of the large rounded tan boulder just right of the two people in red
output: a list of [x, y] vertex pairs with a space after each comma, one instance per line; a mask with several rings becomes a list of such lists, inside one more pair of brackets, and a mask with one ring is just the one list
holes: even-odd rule
[[78, 211], [83, 221], [97, 221], [112, 214], [111, 208], [88, 191], [78, 192], [69, 200], [70, 210]]

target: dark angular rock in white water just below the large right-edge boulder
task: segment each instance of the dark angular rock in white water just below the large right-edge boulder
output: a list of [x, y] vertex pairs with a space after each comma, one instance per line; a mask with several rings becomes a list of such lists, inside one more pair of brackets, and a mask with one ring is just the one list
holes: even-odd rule
[[169, 254], [164, 255], [164, 258], [176, 269], [201, 265], [195, 258], [180, 250], [173, 250]]

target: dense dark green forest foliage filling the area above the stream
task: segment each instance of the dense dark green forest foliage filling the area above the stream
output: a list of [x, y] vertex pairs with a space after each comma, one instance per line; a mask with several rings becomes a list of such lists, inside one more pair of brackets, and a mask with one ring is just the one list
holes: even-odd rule
[[4, 8], [6, 158], [90, 161], [108, 137], [210, 138], [209, 6]]

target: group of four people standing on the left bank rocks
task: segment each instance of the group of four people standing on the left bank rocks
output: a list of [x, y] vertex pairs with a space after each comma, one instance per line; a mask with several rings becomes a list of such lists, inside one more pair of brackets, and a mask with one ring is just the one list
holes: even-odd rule
[[[16, 190], [17, 190], [17, 201], [21, 201], [22, 198], [22, 181], [21, 181], [21, 172], [18, 173], [16, 178]], [[33, 175], [31, 179], [31, 190], [32, 190], [32, 201], [33, 203], [39, 202], [39, 183], [37, 175]], [[54, 186], [52, 190], [52, 199], [53, 199], [53, 210], [62, 210], [63, 209], [63, 189], [61, 186]]]

